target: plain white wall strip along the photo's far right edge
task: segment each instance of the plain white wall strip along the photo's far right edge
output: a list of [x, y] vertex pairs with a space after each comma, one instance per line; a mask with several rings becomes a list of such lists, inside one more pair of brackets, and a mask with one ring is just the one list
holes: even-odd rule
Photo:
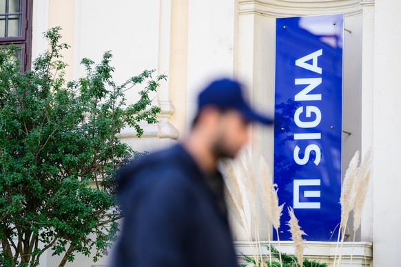
[[399, 1], [376, 1], [373, 86], [373, 265], [400, 265]]

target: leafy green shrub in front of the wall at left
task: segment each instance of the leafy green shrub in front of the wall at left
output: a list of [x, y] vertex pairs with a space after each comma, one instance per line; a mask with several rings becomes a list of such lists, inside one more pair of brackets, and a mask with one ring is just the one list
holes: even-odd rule
[[[37, 266], [48, 249], [59, 266], [92, 248], [94, 261], [107, 254], [121, 216], [110, 177], [134, 155], [118, 135], [129, 125], [141, 136], [139, 122], [160, 112], [149, 94], [165, 76], [116, 85], [110, 52], [97, 65], [84, 58], [86, 75], [66, 83], [59, 31], [45, 33], [49, 49], [28, 72], [17, 47], [0, 51], [0, 266]], [[140, 84], [140, 100], [126, 105], [124, 92]]]

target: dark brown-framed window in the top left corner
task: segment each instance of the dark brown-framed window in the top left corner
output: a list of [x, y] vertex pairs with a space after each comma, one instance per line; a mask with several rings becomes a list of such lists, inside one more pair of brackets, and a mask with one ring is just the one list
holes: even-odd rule
[[21, 70], [29, 70], [32, 40], [32, 1], [0, 0], [0, 45], [18, 45]]

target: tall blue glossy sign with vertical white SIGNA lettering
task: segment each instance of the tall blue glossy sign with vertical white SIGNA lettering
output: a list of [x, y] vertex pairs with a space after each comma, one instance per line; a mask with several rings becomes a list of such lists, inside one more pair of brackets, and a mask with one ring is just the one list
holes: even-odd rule
[[[334, 240], [340, 223], [342, 14], [276, 20], [274, 182], [305, 239]], [[280, 239], [289, 240], [287, 207]]]

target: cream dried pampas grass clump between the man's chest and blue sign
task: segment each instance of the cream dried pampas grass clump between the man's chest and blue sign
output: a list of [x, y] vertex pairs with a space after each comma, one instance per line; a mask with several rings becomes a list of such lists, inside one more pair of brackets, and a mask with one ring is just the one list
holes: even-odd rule
[[[263, 255], [260, 246], [258, 222], [260, 220], [260, 222], [268, 224], [267, 233], [270, 242], [271, 228], [269, 225], [273, 225], [278, 231], [284, 206], [284, 204], [278, 206], [277, 189], [276, 184], [272, 182], [271, 171], [265, 159], [261, 157], [259, 168], [256, 172], [248, 151], [240, 153], [237, 160], [225, 160], [222, 162], [220, 169], [225, 179], [226, 203], [229, 214], [243, 226], [249, 241], [256, 240], [258, 253], [255, 253], [254, 246], [251, 245], [251, 247], [256, 265], [259, 266], [259, 264], [263, 264]], [[262, 214], [265, 217], [260, 217]], [[251, 231], [252, 227], [254, 231]], [[252, 233], [254, 238], [252, 238]], [[260, 259], [256, 254], [259, 254]]]

